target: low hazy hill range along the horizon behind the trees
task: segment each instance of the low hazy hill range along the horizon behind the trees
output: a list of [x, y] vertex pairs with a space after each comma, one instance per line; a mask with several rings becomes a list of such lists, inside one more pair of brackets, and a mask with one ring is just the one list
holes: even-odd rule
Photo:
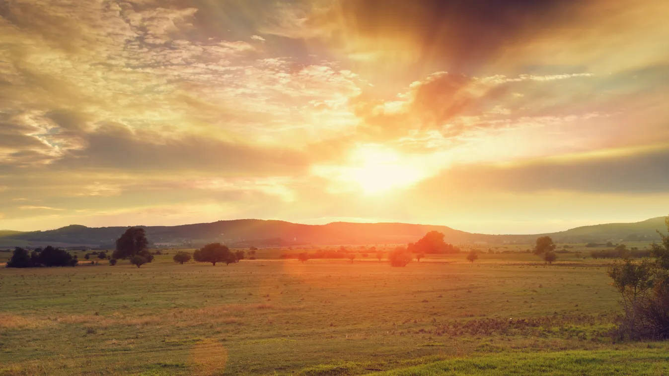
[[[611, 223], [583, 226], [549, 234], [490, 235], [474, 234], [447, 226], [405, 223], [333, 222], [322, 225], [296, 224], [281, 220], [220, 220], [181, 226], [142, 226], [155, 245], [199, 246], [206, 242], [225, 242], [231, 246], [286, 246], [298, 244], [403, 244], [414, 242], [426, 232], [444, 233], [452, 243], [529, 244], [537, 236], [549, 235], [556, 242], [606, 242], [659, 240], [656, 230], [666, 230], [664, 217], [636, 223]], [[57, 230], [0, 232], [0, 246], [45, 245], [110, 248], [128, 227], [86, 227], [71, 225]]]

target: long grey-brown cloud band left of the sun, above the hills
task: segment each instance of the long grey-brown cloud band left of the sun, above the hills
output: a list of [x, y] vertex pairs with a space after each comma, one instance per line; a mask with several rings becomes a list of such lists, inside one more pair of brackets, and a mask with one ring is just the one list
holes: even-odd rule
[[254, 147], [195, 134], [164, 135], [106, 124], [87, 136], [85, 150], [71, 150], [54, 168], [124, 171], [199, 171], [219, 176], [298, 174], [308, 163], [288, 148]]

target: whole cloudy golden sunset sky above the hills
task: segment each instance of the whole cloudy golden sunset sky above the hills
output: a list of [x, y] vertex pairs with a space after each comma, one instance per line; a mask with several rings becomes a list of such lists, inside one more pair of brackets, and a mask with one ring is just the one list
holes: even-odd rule
[[0, 0], [0, 229], [669, 212], [669, 2]]

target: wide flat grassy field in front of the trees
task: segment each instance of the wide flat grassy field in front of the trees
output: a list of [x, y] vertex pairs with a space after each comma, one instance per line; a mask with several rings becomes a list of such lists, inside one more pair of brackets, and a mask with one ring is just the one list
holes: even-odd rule
[[669, 373], [608, 335], [609, 261], [559, 256], [0, 268], [0, 375]]

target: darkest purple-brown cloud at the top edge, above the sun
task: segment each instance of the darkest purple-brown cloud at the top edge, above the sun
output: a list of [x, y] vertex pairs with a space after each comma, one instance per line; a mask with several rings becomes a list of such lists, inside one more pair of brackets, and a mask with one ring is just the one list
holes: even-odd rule
[[[442, 67], [472, 73], [504, 47], [528, 39], [569, 18], [574, 5], [565, 0], [341, 0], [314, 25], [343, 17], [345, 33], [377, 39], [405, 39], [421, 55]], [[335, 35], [337, 37], [337, 35]], [[345, 40], [341, 40], [345, 43]], [[419, 63], [420, 64], [420, 63]]]

